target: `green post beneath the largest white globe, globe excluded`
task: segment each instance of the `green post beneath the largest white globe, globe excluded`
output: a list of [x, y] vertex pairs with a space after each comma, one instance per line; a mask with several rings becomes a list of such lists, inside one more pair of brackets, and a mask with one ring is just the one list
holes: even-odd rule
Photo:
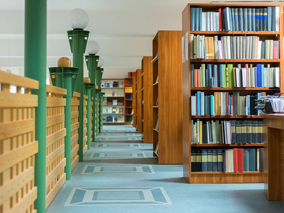
[[86, 45], [89, 37], [89, 31], [74, 29], [68, 30], [68, 40], [71, 48], [71, 52], [73, 53], [73, 66], [79, 67], [79, 73], [77, 77], [77, 81], [75, 84], [75, 91], [81, 94], [79, 101], [79, 123], [80, 127], [78, 129], [79, 133], [79, 161], [83, 161], [83, 123], [84, 123], [84, 53], [86, 50]]

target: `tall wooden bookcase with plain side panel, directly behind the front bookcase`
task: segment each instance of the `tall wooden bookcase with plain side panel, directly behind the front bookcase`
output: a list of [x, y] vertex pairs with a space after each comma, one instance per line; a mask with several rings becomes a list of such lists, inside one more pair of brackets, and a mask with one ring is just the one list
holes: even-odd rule
[[157, 157], [159, 141], [159, 164], [183, 163], [181, 38], [181, 31], [159, 30], [153, 40], [153, 58], [159, 50], [158, 61], [153, 63], [153, 156]]

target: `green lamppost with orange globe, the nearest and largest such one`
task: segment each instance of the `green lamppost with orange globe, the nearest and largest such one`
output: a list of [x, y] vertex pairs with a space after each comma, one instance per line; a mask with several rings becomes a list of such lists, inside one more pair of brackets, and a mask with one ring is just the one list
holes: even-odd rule
[[63, 95], [66, 99], [64, 107], [66, 128], [66, 135], [64, 137], [64, 157], [66, 158], [66, 166], [64, 171], [66, 173], [66, 180], [71, 179], [71, 98], [73, 96], [77, 75], [79, 72], [78, 67], [70, 67], [71, 61], [69, 58], [62, 57], [58, 60], [58, 67], [48, 67], [52, 81], [52, 85], [61, 87], [67, 90], [67, 94]]

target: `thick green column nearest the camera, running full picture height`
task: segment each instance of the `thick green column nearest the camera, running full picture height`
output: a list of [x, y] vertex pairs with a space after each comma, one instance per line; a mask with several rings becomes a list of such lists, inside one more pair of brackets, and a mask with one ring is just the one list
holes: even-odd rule
[[34, 208], [45, 212], [46, 196], [46, 32], [47, 0], [25, 0], [25, 77], [39, 81], [39, 105], [35, 108], [35, 140], [39, 152], [35, 154], [34, 185], [38, 197]]

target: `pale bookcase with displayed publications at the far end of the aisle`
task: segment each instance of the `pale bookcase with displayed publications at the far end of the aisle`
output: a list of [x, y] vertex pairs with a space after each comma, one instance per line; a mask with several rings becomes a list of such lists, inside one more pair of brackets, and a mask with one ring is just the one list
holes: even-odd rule
[[[118, 82], [118, 85], [114, 85], [114, 82]], [[108, 87], [109, 85], [109, 87]], [[102, 103], [102, 109], [108, 108], [123, 108], [123, 113], [103, 113], [103, 125], [124, 125], [125, 124], [125, 83], [124, 79], [101, 79], [101, 90], [104, 92], [104, 103]], [[117, 96], [114, 96], [117, 91]], [[113, 105], [113, 100], [117, 99], [122, 104]], [[112, 121], [107, 121], [107, 117], [112, 117]], [[122, 122], [114, 122], [115, 117], [117, 120], [121, 119]]]

